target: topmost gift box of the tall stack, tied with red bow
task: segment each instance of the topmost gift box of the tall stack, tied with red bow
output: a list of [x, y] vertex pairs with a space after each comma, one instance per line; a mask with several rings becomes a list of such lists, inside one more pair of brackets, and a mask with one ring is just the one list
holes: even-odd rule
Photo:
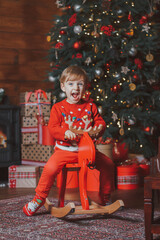
[[51, 93], [38, 91], [20, 93], [22, 116], [35, 116], [37, 113], [50, 116]]

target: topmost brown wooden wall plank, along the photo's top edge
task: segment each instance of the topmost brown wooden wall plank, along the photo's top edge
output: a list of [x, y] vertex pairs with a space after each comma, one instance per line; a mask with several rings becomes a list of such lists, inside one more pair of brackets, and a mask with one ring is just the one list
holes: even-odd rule
[[60, 10], [54, 1], [26, 1], [26, 0], [0, 0], [0, 16], [8, 17], [32, 17], [34, 19], [51, 20], [52, 16], [58, 14]]

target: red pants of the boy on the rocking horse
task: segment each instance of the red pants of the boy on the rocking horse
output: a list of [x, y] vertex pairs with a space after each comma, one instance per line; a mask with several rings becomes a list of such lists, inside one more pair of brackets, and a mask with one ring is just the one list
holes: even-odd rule
[[[46, 198], [57, 174], [67, 163], [76, 163], [78, 153], [55, 148], [53, 155], [44, 166], [41, 178], [36, 188], [39, 196]], [[99, 195], [103, 204], [108, 201], [108, 195], [114, 190], [114, 163], [103, 153], [96, 150], [96, 169], [100, 171]]]

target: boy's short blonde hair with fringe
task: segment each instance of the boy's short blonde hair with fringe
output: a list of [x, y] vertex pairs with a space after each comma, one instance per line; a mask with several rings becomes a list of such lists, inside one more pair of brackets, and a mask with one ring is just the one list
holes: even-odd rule
[[84, 69], [78, 66], [69, 66], [63, 70], [60, 77], [60, 83], [64, 83], [68, 80], [75, 81], [78, 78], [83, 78], [85, 84], [88, 82], [88, 76]]

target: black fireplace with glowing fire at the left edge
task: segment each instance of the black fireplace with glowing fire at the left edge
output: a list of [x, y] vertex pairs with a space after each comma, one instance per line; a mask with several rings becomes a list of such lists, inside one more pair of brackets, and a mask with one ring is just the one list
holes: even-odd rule
[[0, 105], [0, 167], [20, 163], [20, 107]]

